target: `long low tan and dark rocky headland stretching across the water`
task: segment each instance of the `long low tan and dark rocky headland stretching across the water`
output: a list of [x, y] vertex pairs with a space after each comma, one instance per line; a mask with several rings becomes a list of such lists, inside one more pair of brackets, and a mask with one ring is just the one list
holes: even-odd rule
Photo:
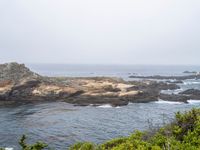
[[46, 77], [32, 72], [24, 64], [0, 65], [1, 104], [64, 101], [82, 106], [121, 106], [129, 102], [146, 103], [159, 99], [182, 102], [187, 102], [191, 97], [200, 99], [200, 92], [192, 89], [177, 95], [161, 93], [161, 90], [178, 88], [176, 83], [146, 79], [124, 81], [113, 77]]

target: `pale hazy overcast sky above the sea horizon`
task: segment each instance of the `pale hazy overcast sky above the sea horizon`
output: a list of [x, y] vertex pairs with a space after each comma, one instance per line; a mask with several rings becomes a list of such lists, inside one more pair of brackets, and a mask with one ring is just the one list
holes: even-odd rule
[[200, 65], [200, 0], [0, 0], [0, 62]]

